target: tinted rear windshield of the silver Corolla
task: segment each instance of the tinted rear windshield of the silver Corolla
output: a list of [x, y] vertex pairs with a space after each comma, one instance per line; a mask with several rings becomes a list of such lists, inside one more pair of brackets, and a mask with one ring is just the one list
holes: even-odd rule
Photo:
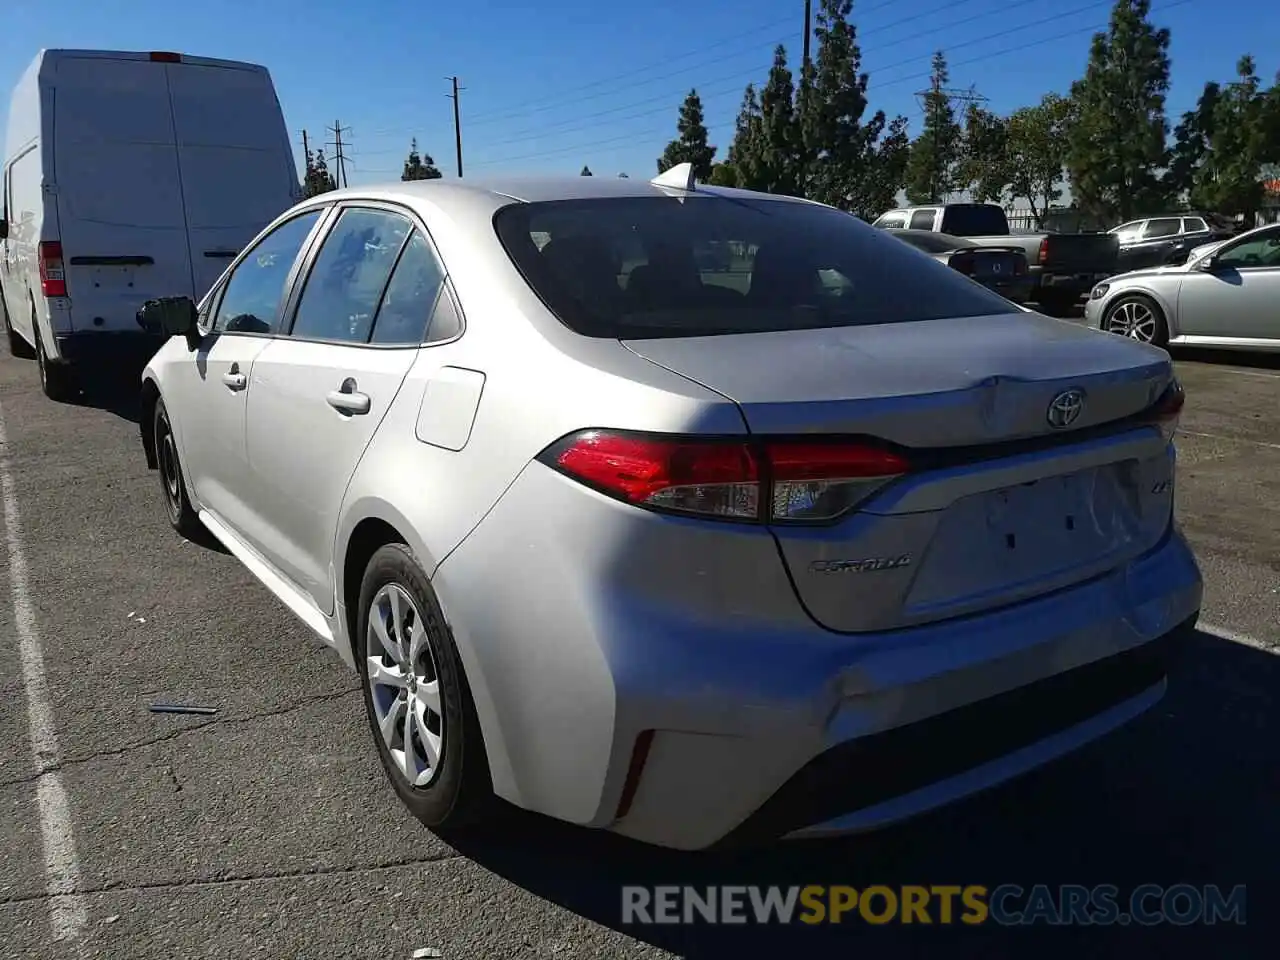
[[506, 206], [498, 237], [572, 330], [643, 339], [1019, 312], [831, 207], [701, 196]]

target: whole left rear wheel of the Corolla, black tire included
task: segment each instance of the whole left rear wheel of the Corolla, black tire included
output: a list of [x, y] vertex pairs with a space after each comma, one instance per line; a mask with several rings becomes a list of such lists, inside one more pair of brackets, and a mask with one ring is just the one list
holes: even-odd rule
[[[488, 819], [495, 801], [471, 689], [435, 591], [403, 544], [381, 547], [365, 568], [353, 648], [369, 728], [401, 801], [431, 829]], [[404, 680], [406, 659], [412, 681]], [[435, 749], [434, 762], [424, 742]]]

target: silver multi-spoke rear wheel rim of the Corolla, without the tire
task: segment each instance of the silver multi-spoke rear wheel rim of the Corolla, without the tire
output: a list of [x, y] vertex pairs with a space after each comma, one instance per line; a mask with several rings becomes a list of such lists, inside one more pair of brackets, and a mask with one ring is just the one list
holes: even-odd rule
[[426, 621], [398, 584], [374, 595], [365, 652], [383, 742], [410, 786], [425, 787], [444, 759], [444, 705]]

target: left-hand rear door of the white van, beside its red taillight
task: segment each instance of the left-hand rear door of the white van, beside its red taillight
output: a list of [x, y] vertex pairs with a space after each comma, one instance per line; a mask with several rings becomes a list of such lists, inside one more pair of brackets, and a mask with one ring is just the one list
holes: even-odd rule
[[137, 333], [151, 297], [191, 296], [164, 65], [61, 56], [54, 180], [73, 330]]

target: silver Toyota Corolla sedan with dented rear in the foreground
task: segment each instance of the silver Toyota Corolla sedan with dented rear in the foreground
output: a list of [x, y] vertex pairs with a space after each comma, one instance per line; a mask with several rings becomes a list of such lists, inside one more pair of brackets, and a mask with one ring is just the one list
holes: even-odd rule
[[173, 525], [358, 671], [431, 827], [901, 819], [1151, 707], [1199, 611], [1169, 356], [818, 204], [343, 189], [155, 317]]

